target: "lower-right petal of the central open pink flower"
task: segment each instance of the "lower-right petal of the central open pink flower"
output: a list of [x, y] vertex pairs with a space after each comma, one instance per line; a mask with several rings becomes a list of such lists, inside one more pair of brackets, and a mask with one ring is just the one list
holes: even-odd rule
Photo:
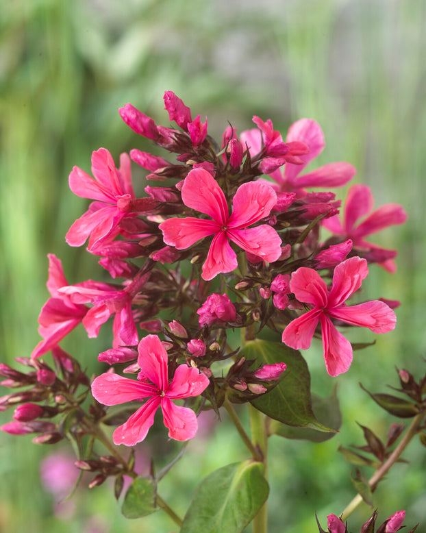
[[267, 224], [247, 230], [229, 230], [227, 234], [240, 248], [268, 263], [277, 261], [281, 256], [281, 237]]

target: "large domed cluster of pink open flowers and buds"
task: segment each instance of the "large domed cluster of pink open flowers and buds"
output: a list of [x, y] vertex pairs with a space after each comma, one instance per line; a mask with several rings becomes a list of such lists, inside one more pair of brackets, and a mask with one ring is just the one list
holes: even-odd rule
[[[348, 184], [355, 169], [334, 162], [305, 172], [325, 147], [316, 121], [297, 121], [284, 140], [271, 120], [254, 116], [253, 129], [238, 134], [229, 126], [216, 142], [207, 119], [192, 119], [173, 92], [165, 93], [164, 104], [173, 126], [157, 125], [130, 103], [120, 114], [136, 134], [167, 151], [166, 158], [134, 148], [121, 154], [117, 168], [100, 148], [92, 153], [92, 175], [77, 166], [71, 171], [73, 193], [92, 202], [66, 242], [87, 242], [111, 279], [72, 284], [50, 254], [51, 297], [32, 353], [36, 361], [57, 350], [80, 323], [89, 338], [97, 337], [112, 319], [110, 349], [99, 354], [111, 368], [91, 390], [103, 406], [142, 403], [114, 432], [114, 442], [128, 446], [145, 438], [157, 410], [168, 435], [186, 441], [197, 432], [200, 395], [213, 405], [214, 391], [232, 389], [249, 401], [275, 386], [286, 362], [248, 365], [238, 347], [229, 349], [229, 330], [270, 327], [303, 350], [321, 337], [325, 367], [336, 376], [353, 358], [338, 328], [385, 333], [396, 322], [382, 299], [347, 301], [358, 298], [368, 263], [394, 271], [396, 252], [367, 238], [403, 223], [405, 212], [396, 204], [373, 211], [371, 190], [353, 185], [341, 221], [340, 200], [327, 189]], [[142, 197], [131, 161], [146, 171]], [[25, 404], [14, 417], [38, 419], [42, 409]]]

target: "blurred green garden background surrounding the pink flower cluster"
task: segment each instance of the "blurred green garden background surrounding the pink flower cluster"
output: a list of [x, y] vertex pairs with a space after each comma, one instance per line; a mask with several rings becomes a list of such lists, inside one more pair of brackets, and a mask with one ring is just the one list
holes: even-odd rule
[[[338, 383], [341, 434], [319, 445], [271, 439], [271, 533], [315, 532], [315, 511], [325, 525], [326, 515], [339, 514], [353, 497], [351, 466], [338, 445], [362, 444], [355, 421], [383, 438], [394, 421], [358, 382], [379, 392], [397, 385], [395, 365], [425, 371], [425, 27], [423, 0], [1, 3], [1, 360], [28, 356], [39, 340], [48, 252], [62, 258], [71, 283], [100, 279], [96, 258], [64, 242], [86, 209], [67, 178], [74, 164], [89, 171], [90, 153], [101, 146], [116, 160], [133, 147], [151, 149], [121, 121], [120, 106], [131, 102], [168, 125], [162, 95], [173, 90], [193, 116], [208, 116], [216, 137], [227, 121], [239, 131], [251, 127], [253, 114], [273, 119], [284, 135], [292, 121], [316, 119], [327, 142], [316, 164], [351, 162], [355, 182], [371, 186], [377, 206], [402, 203], [409, 216], [405, 226], [373, 239], [399, 250], [397, 273], [373, 266], [365, 283], [368, 299], [401, 300], [397, 330], [357, 352], [351, 371], [335, 379], [325, 373], [320, 347], [304, 354], [315, 392], [327, 395]], [[76, 331], [68, 342], [95, 368], [109, 340], [84, 338]], [[373, 334], [355, 332], [355, 338], [372, 340]], [[181, 514], [203, 475], [246, 457], [238, 438], [221, 427], [197, 436], [190, 449], [161, 486]], [[29, 524], [32, 533], [175, 530], [162, 513], [121, 517], [110, 486], [90, 494], [82, 489], [68, 514], [55, 514], [58, 497], [43, 490], [39, 474], [40, 460], [52, 451], [29, 437], [0, 435], [1, 532], [27, 532]], [[405, 456], [411, 464], [394, 467], [375, 505], [383, 519], [405, 508], [407, 523], [421, 521], [423, 531], [424, 448], [412, 443]], [[354, 513], [354, 531], [370, 512], [362, 506]]]

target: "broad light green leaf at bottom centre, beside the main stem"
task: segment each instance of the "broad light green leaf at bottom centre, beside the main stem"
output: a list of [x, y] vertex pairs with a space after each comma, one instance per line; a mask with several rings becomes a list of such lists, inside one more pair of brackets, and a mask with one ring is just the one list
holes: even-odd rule
[[261, 462], [228, 464], [197, 487], [180, 533], [240, 533], [268, 498]]

